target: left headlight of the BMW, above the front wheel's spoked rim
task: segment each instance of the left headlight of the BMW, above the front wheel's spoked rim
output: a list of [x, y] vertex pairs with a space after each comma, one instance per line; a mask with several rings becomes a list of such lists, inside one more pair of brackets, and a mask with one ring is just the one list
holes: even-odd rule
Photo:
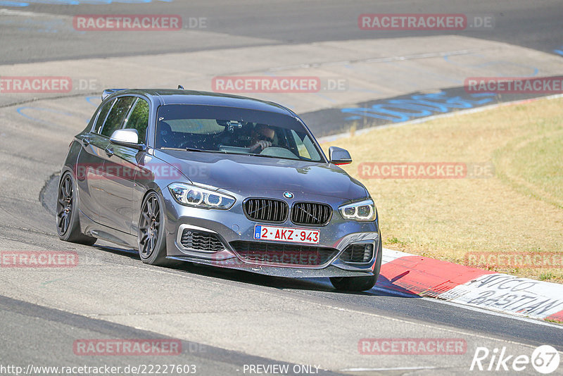
[[178, 203], [205, 209], [229, 209], [233, 206], [234, 197], [212, 191], [196, 185], [172, 183], [168, 186], [170, 193]]

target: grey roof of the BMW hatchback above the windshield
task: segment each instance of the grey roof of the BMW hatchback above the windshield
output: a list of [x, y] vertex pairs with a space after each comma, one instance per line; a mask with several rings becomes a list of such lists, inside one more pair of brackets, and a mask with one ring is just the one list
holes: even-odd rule
[[198, 92], [184, 89], [108, 89], [112, 92], [111, 97], [124, 94], [141, 94], [151, 97], [153, 101], [167, 104], [196, 104], [202, 106], [226, 106], [235, 108], [246, 108], [256, 111], [268, 111], [295, 116], [288, 108], [270, 101], [236, 96], [231, 94]]

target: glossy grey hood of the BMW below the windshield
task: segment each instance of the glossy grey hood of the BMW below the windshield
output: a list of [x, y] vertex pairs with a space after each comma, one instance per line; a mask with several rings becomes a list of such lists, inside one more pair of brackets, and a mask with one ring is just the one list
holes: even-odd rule
[[[362, 183], [330, 163], [291, 161], [238, 154], [194, 151], [155, 151], [155, 156], [178, 168], [191, 182], [251, 196], [268, 191], [362, 199]], [[298, 196], [296, 196], [298, 198]]]

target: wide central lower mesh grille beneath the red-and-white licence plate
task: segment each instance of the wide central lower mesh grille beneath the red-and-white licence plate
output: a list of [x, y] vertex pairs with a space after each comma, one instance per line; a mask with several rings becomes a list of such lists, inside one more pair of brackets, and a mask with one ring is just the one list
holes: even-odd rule
[[337, 249], [321, 246], [244, 242], [230, 243], [236, 254], [245, 261], [266, 264], [319, 266], [334, 257]]

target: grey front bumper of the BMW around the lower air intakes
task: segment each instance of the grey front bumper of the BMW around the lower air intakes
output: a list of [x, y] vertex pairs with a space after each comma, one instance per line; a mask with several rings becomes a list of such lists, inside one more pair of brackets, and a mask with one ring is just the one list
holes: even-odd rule
[[[259, 223], [250, 220], [243, 213], [241, 202], [237, 202], [228, 211], [193, 208], [177, 203], [168, 190], [162, 192], [165, 200], [165, 229], [167, 242], [167, 258], [176, 261], [188, 261], [220, 268], [246, 270], [264, 275], [278, 277], [358, 277], [374, 275], [379, 272], [377, 262], [381, 258], [381, 239], [379, 236], [378, 218], [373, 222], [356, 222], [343, 220], [338, 212], [337, 201], [329, 203], [333, 207], [333, 215], [328, 225], [303, 226], [294, 225], [288, 218], [284, 223]], [[311, 201], [327, 202], [327, 197], [312, 197]], [[290, 203], [291, 206], [291, 203]], [[301, 265], [299, 263], [267, 263], [250, 261], [237, 253], [232, 242], [265, 242], [254, 239], [255, 225], [273, 225], [277, 227], [306, 228], [320, 231], [320, 242], [314, 246], [332, 249], [334, 253], [320, 265]], [[222, 243], [217, 251], [201, 251], [186, 248], [182, 245], [184, 230], [215, 234]], [[270, 244], [279, 244], [266, 242]], [[306, 245], [284, 242], [284, 245]], [[341, 256], [351, 244], [372, 244], [372, 258], [369, 262], [352, 263], [343, 261]]]

